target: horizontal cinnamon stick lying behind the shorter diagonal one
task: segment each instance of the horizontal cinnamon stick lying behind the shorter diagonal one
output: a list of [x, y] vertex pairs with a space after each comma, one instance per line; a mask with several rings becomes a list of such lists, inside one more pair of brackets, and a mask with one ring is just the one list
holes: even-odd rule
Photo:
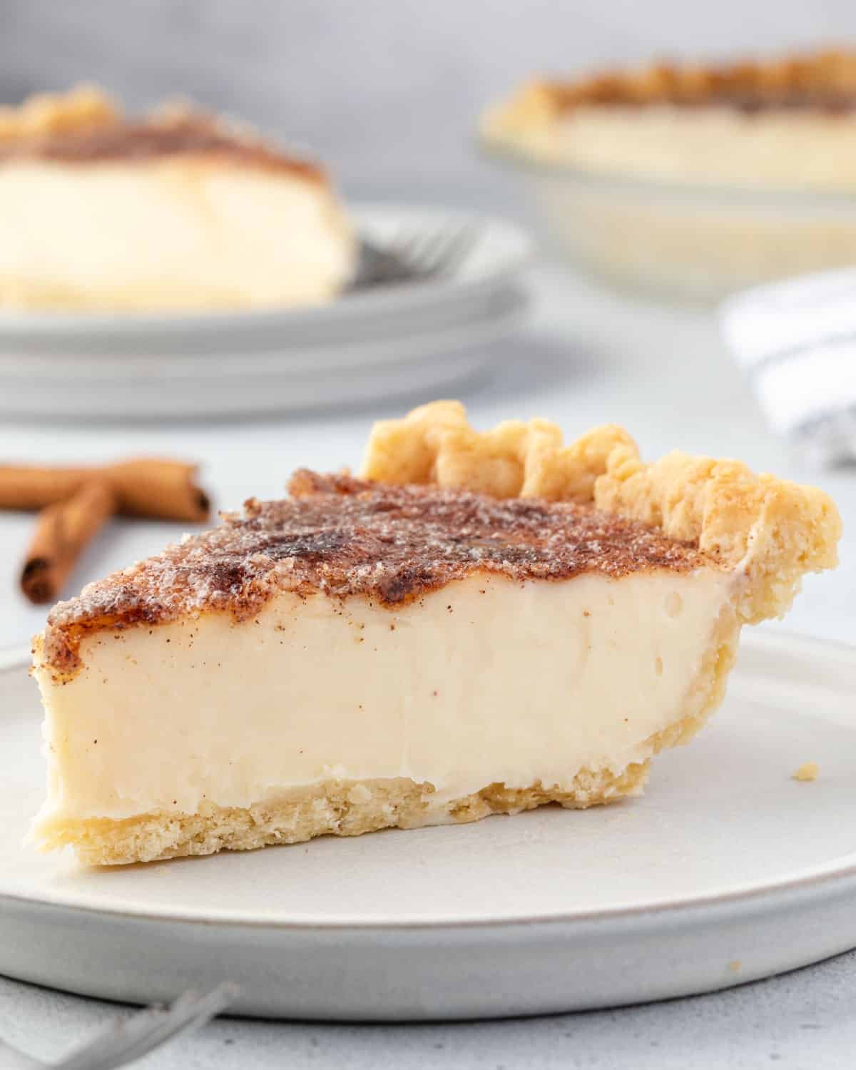
[[195, 464], [157, 458], [105, 468], [0, 465], [0, 509], [41, 509], [64, 502], [94, 478], [111, 485], [116, 507], [126, 516], [201, 523], [211, 502], [195, 476]]

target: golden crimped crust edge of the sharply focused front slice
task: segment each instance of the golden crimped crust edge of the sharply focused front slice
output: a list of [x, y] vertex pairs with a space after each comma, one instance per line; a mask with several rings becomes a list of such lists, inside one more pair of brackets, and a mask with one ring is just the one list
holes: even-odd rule
[[460, 402], [435, 401], [374, 426], [363, 475], [498, 498], [590, 502], [641, 520], [744, 572], [738, 612], [750, 624], [781, 616], [804, 574], [838, 560], [841, 518], [828, 494], [755, 475], [735, 460], [675, 452], [646, 464], [614, 425], [563, 445], [547, 421], [508, 421], [478, 432]]

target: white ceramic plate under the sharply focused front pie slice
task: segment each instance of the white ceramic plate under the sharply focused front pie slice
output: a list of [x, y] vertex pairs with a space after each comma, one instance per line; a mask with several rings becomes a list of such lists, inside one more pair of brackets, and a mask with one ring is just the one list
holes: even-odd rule
[[[0, 973], [238, 1011], [529, 1014], [727, 988], [856, 946], [856, 652], [747, 637], [730, 694], [643, 798], [109, 870], [21, 846], [40, 708], [0, 672]], [[792, 773], [816, 761], [820, 777]]]

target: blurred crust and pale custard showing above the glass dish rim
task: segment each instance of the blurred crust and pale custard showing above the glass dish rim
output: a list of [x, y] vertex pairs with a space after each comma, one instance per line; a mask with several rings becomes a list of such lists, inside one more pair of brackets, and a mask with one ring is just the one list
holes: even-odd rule
[[492, 107], [484, 140], [581, 174], [856, 188], [856, 52], [655, 64], [538, 78]]

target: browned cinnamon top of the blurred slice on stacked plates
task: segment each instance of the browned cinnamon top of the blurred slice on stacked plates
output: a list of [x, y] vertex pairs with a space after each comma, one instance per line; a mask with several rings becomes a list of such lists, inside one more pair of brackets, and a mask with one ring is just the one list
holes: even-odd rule
[[316, 164], [293, 158], [244, 136], [203, 112], [182, 110], [173, 116], [141, 121], [81, 125], [33, 137], [0, 141], [0, 162], [5, 159], [49, 159], [64, 164], [116, 160], [150, 160], [167, 156], [212, 156], [296, 173], [314, 182], [325, 181]]

